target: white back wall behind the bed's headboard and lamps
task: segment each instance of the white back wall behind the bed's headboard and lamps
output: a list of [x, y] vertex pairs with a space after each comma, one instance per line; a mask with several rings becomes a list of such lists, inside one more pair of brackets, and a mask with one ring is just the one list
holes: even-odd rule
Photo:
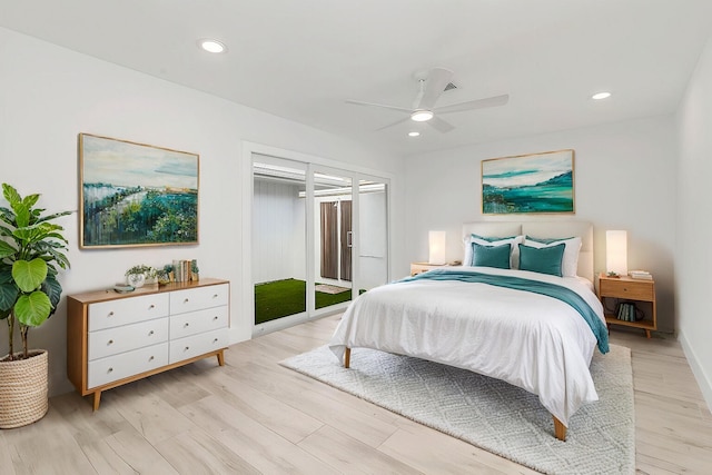
[[674, 330], [676, 141], [672, 117], [408, 157], [406, 255], [413, 261], [427, 260], [427, 231], [444, 229], [447, 231], [447, 259], [462, 260], [461, 224], [495, 219], [482, 215], [483, 159], [565, 148], [575, 150], [575, 215], [513, 215], [510, 219], [592, 221], [596, 273], [605, 270], [605, 230], [626, 229], [629, 268], [643, 268], [653, 274], [659, 328]]

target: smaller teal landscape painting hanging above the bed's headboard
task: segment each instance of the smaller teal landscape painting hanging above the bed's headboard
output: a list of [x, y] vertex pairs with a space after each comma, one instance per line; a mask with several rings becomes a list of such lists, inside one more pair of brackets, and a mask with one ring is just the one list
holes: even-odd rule
[[574, 212], [574, 152], [482, 161], [482, 212]]

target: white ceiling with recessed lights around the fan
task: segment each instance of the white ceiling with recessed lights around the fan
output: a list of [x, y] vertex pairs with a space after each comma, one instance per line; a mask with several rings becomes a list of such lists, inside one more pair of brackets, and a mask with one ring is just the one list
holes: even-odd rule
[[[0, 0], [0, 26], [407, 156], [673, 112], [712, 1]], [[406, 116], [345, 102], [409, 108], [433, 67], [457, 86], [437, 106], [510, 102], [448, 115], [447, 133], [377, 130]]]

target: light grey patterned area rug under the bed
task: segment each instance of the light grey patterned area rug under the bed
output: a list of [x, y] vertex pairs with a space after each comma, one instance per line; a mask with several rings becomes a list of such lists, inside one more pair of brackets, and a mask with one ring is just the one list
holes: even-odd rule
[[566, 442], [535, 395], [468, 370], [365, 348], [352, 350], [346, 369], [327, 346], [280, 365], [542, 473], [635, 472], [631, 350], [622, 346], [596, 350], [599, 402], [574, 414]]

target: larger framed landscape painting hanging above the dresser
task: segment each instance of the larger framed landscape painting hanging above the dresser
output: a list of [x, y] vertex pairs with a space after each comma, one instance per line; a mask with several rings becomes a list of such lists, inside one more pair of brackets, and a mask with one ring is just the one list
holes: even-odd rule
[[82, 133], [82, 246], [197, 244], [198, 156]]

